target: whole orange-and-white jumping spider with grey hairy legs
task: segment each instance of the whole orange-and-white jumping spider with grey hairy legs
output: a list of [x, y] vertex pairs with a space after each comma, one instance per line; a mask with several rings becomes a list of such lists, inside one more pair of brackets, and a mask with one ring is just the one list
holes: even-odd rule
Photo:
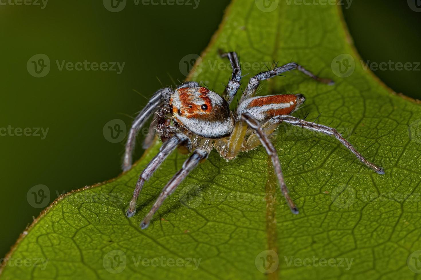
[[238, 89], [240, 89], [241, 68], [235, 52], [221, 53], [221, 56], [228, 58], [233, 68], [232, 79], [229, 80], [223, 97], [200, 86], [196, 82], [184, 83], [176, 89], [160, 89], [155, 92], [146, 107], [141, 110], [133, 121], [125, 146], [124, 170], [128, 170], [131, 167], [132, 152], [137, 132], [153, 113], [155, 113], [155, 118], [152, 126], [155, 127], [157, 134], [163, 141], [163, 145], [160, 148], [160, 152], [142, 171], [137, 181], [133, 197], [126, 212], [128, 217], [132, 217], [136, 212], [136, 201], [145, 181], [152, 176], [165, 158], [176, 147], [180, 147], [184, 152], [192, 152], [191, 156], [184, 162], [181, 170], [163, 188], [152, 209], [141, 222], [141, 228], [148, 227], [152, 216], [163, 204], [167, 196], [175, 191], [190, 171], [208, 157], [212, 149], [215, 149], [224, 159], [232, 160], [239, 152], [250, 151], [260, 144], [263, 145], [271, 157], [274, 171], [280, 184], [280, 190], [285, 196], [288, 206], [294, 214], [298, 214], [294, 202], [288, 195], [277, 150], [269, 140], [269, 136], [282, 122], [334, 136], [355, 154], [362, 163], [372, 168], [376, 173], [384, 174], [382, 168], [366, 160], [336, 129], [291, 116], [290, 114], [297, 110], [305, 101], [302, 94], [255, 97], [260, 81], [280, 76], [281, 73], [294, 69], [325, 84], [333, 84], [332, 80], [320, 79], [301, 65], [294, 62], [288, 63], [273, 70], [259, 73], [251, 78], [244, 94], [242, 94], [237, 109], [231, 111], [229, 104], [236, 96]]

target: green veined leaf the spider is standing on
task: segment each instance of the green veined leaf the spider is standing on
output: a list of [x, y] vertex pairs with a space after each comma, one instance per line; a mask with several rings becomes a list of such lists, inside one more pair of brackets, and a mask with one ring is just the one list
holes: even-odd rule
[[344, 132], [386, 175], [363, 166], [336, 139], [281, 126], [274, 141], [299, 215], [288, 209], [259, 147], [230, 162], [212, 152], [140, 230], [187, 158], [169, 157], [128, 219], [127, 203], [159, 149], [155, 144], [119, 178], [73, 191], [48, 207], [4, 260], [4, 279], [266, 279], [264, 272], [271, 279], [416, 278], [420, 106], [364, 70], [340, 6], [262, 3], [233, 1], [194, 79], [223, 91], [230, 70], [218, 58], [219, 48], [240, 54], [243, 75], [248, 73], [243, 87], [273, 61], [296, 61], [332, 78], [336, 84], [327, 86], [291, 72], [264, 82], [259, 94], [303, 93], [301, 116], [321, 114], [318, 123]]

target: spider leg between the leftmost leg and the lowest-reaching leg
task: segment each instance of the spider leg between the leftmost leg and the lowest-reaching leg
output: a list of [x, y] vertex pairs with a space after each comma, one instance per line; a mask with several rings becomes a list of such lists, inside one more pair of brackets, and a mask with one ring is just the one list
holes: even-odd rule
[[136, 183], [136, 188], [133, 191], [133, 196], [127, 209], [127, 217], [132, 217], [136, 212], [136, 201], [143, 188], [144, 183], [152, 176], [155, 170], [161, 165], [161, 163], [168, 157], [171, 152], [176, 149], [177, 146], [184, 145], [187, 149], [192, 149], [192, 143], [186, 135], [182, 133], [175, 134], [172, 138], [166, 141], [160, 148], [159, 153], [149, 162], [142, 173], [139, 176], [139, 180]]

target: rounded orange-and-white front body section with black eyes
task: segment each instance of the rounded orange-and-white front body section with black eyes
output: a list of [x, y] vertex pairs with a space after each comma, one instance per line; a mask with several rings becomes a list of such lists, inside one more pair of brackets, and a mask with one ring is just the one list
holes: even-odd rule
[[204, 138], [223, 138], [234, 128], [226, 100], [201, 86], [176, 89], [170, 97], [170, 108], [179, 125]]

